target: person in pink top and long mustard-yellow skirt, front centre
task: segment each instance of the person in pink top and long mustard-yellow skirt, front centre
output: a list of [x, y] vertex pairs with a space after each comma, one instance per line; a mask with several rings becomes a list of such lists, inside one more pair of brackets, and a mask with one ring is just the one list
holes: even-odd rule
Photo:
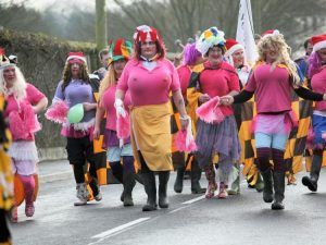
[[171, 158], [170, 94], [180, 112], [183, 128], [188, 117], [180, 93], [179, 78], [174, 65], [165, 59], [165, 48], [156, 29], [142, 25], [134, 35], [135, 58], [129, 60], [116, 89], [115, 108], [118, 117], [125, 113], [123, 99], [130, 91], [133, 108], [131, 145], [134, 156], [141, 166], [145, 191], [148, 195], [142, 211], [156, 209], [154, 171], [159, 172], [159, 206], [168, 208], [167, 181]]

